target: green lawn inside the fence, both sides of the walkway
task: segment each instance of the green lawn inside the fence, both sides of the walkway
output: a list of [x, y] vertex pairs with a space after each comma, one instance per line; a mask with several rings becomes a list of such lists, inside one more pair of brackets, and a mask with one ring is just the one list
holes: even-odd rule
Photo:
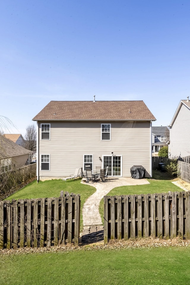
[[[153, 172], [153, 179], [148, 179], [150, 184], [145, 185], [133, 185], [133, 186], [121, 186], [116, 187], [111, 190], [107, 195], [127, 195], [127, 194], [148, 194], [148, 193], [162, 193], [168, 191], [181, 191], [179, 187], [171, 183], [174, 179], [171, 178], [168, 173], [161, 173], [159, 171]], [[23, 187], [21, 190], [15, 194], [9, 196], [9, 199], [31, 199], [31, 198], [49, 198], [49, 197], [59, 197], [60, 191], [67, 191], [69, 193], [80, 194], [81, 199], [81, 216], [80, 216], [80, 230], [83, 228], [82, 220], [82, 208], [86, 199], [91, 196], [96, 188], [80, 183], [81, 179], [63, 181], [61, 179], [57, 180], [47, 180], [47, 181], [33, 181], [28, 184], [28, 186]], [[104, 216], [104, 203], [103, 199], [100, 202], [99, 212], [102, 217]]]

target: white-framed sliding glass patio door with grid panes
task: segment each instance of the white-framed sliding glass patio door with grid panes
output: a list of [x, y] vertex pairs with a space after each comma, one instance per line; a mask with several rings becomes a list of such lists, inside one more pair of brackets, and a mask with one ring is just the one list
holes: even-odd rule
[[104, 168], [106, 169], [108, 166], [108, 176], [122, 176], [121, 158], [122, 156], [103, 155]]

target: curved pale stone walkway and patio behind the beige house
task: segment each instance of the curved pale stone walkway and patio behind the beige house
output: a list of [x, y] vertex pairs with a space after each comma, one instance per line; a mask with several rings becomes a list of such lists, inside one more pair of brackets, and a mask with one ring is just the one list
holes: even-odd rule
[[[84, 183], [81, 181], [81, 183]], [[83, 214], [83, 225], [102, 225], [102, 219], [99, 214], [99, 203], [102, 198], [107, 195], [110, 190], [118, 186], [129, 186], [129, 185], [143, 185], [149, 184], [147, 179], [133, 179], [129, 177], [115, 177], [107, 179], [106, 182], [94, 182], [86, 183], [89, 187], [93, 186], [96, 188], [96, 192], [92, 194], [84, 203], [82, 214]]]

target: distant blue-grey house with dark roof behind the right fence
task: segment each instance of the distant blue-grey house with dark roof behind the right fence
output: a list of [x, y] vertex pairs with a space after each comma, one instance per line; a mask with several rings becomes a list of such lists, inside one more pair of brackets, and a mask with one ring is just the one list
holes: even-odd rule
[[163, 146], [167, 146], [170, 131], [167, 127], [152, 127], [152, 155], [157, 156]]

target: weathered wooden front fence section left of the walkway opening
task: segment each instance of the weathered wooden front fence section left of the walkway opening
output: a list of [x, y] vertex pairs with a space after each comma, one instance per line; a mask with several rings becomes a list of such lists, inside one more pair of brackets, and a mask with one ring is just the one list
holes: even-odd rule
[[0, 201], [0, 248], [78, 244], [80, 195]]

